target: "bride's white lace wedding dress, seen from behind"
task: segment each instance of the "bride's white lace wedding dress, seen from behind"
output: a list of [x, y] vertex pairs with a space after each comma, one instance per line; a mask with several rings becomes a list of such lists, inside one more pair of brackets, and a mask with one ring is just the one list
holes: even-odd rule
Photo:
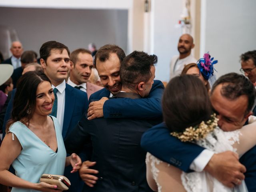
[[[233, 148], [232, 145], [235, 142], [239, 143], [240, 135], [241, 133], [239, 130], [224, 132], [217, 127], [210, 132], [206, 138], [198, 140], [196, 144], [216, 153], [227, 150], [236, 152], [236, 148]], [[157, 166], [166, 164], [166, 162], [162, 162], [152, 154], [147, 153], [146, 163], [150, 163], [153, 178], [158, 186], [158, 192], [161, 192], [162, 188], [167, 189], [167, 186], [161, 186], [158, 183], [160, 172], [157, 168]], [[170, 165], [168, 164], [168, 166]], [[212, 177], [208, 172], [204, 171], [191, 173], [182, 172], [181, 180], [182, 185], [187, 192], [248, 192], [244, 180], [242, 180], [242, 184], [240, 184], [240, 186], [228, 188], [220, 183], [216, 178]]]

